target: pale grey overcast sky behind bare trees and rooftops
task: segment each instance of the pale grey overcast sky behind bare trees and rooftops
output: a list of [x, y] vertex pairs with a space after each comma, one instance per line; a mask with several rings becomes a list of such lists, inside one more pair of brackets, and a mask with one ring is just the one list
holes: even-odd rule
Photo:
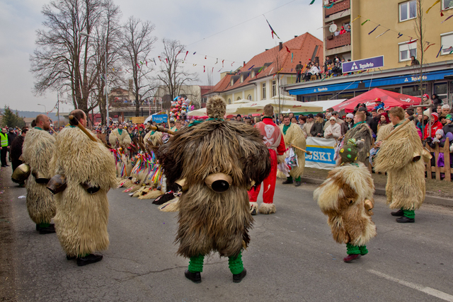
[[[234, 70], [255, 54], [277, 45], [279, 40], [272, 39], [265, 18], [261, 16], [263, 13], [282, 41], [306, 32], [322, 40], [322, 30], [319, 29], [322, 26], [321, 0], [309, 6], [310, 1], [115, 0], [115, 4], [120, 6], [122, 21], [135, 16], [156, 25], [154, 36], [159, 41], [156, 42], [153, 57], [157, 58], [161, 52], [161, 39], [164, 37], [180, 40], [186, 45], [190, 52], [186, 62], [190, 64], [185, 66], [198, 73], [200, 85], [206, 85], [207, 73], [203, 72], [203, 65], [210, 66], [206, 68], [209, 72], [215, 66], [213, 82], [217, 83], [220, 79], [217, 66], [221, 66], [222, 59], [226, 60], [224, 70], [227, 67]], [[44, 28], [41, 9], [49, 2], [0, 0], [1, 108], [9, 105], [15, 110], [43, 112], [44, 107], [38, 104], [45, 105], [49, 111], [57, 102], [55, 93], [33, 95], [34, 79], [29, 62], [30, 54], [35, 49], [35, 30]], [[234, 25], [238, 26], [231, 28]], [[222, 30], [225, 31], [219, 33]], [[193, 52], [197, 54], [193, 55]], [[204, 55], [210, 57], [205, 59]], [[219, 63], [215, 64], [214, 58], [217, 57]], [[232, 61], [236, 62], [233, 66]], [[61, 111], [70, 109], [69, 105], [60, 105]]]

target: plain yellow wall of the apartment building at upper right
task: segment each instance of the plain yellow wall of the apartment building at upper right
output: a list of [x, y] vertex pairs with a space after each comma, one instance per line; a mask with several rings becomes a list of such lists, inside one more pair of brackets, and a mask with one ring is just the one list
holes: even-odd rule
[[[399, 21], [399, 4], [404, 1], [397, 0], [381, 0], [381, 1], [352, 1], [352, 20], [358, 15], [361, 18], [352, 23], [352, 60], [365, 59], [369, 57], [377, 57], [384, 55], [384, 69], [408, 66], [411, 61], [399, 62], [399, 45], [400, 42], [409, 41], [409, 37], [415, 40], [415, 19], [408, 21]], [[453, 31], [453, 22], [441, 22], [449, 16], [449, 9], [444, 17], [440, 17], [440, 4], [436, 4], [431, 8], [430, 12], [425, 13], [433, 1], [423, 1], [423, 23], [425, 28], [425, 37], [423, 40], [435, 43], [424, 54], [423, 63], [442, 62], [453, 59], [453, 54], [440, 55], [436, 58], [437, 52], [440, 50], [440, 34]], [[372, 22], [367, 22], [361, 25], [365, 20], [369, 19]], [[374, 30], [371, 35], [368, 35], [378, 24], [382, 25]], [[377, 35], [384, 33], [386, 28], [391, 30], [381, 37]], [[403, 36], [398, 38], [397, 33], [402, 33]], [[408, 37], [409, 36], [409, 37]], [[417, 42], [417, 59], [420, 61], [420, 41]], [[428, 44], [425, 42], [423, 50]]]

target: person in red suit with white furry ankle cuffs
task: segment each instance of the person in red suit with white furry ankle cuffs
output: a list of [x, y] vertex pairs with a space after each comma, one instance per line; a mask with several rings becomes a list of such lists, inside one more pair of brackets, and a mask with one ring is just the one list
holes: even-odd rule
[[252, 215], [256, 215], [258, 210], [261, 214], [273, 214], [275, 213], [275, 204], [273, 204], [274, 192], [275, 192], [275, 180], [277, 180], [277, 156], [281, 156], [282, 161], [285, 160], [283, 153], [285, 153], [285, 139], [280, 128], [273, 122], [272, 116], [274, 115], [274, 108], [268, 104], [264, 107], [263, 122], [258, 122], [255, 127], [258, 128], [263, 135], [264, 144], [269, 149], [270, 156], [270, 173], [267, 178], [263, 181], [263, 204], [258, 209], [256, 199], [260, 193], [261, 184], [256, 184], [248, 191], [248, 199], [250, 199], [250, 211]]

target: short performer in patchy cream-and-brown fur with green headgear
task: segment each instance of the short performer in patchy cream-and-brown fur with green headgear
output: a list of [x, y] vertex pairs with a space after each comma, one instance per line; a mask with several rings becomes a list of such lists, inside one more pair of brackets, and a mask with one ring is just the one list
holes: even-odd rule
[[368, 168], [355, 162], [363, 144], [350, 139], [340, 150], [342, 164], [328, 173], [313, 194], [323, 214], [328, 216], [333, 239], [346, 244], [348, 256], [344, 262], [366, 255], [366, 244], [376, 236], [371, 220], [374, 182]]

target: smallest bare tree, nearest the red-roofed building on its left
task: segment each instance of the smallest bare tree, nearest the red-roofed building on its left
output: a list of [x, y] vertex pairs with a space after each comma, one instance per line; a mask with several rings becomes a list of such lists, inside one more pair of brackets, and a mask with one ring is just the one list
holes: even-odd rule
[[178, 40], [163, 39], [164, 52], [161, 53], [161, 69], [157, 79], [161, 81], [171, 100], [180, 95], [181, 86], [198, 81], [197, 74], [191, 74], [183, 69], [183, 59], [178, 59], [178, 54], [185, 52], [184, 45]]

